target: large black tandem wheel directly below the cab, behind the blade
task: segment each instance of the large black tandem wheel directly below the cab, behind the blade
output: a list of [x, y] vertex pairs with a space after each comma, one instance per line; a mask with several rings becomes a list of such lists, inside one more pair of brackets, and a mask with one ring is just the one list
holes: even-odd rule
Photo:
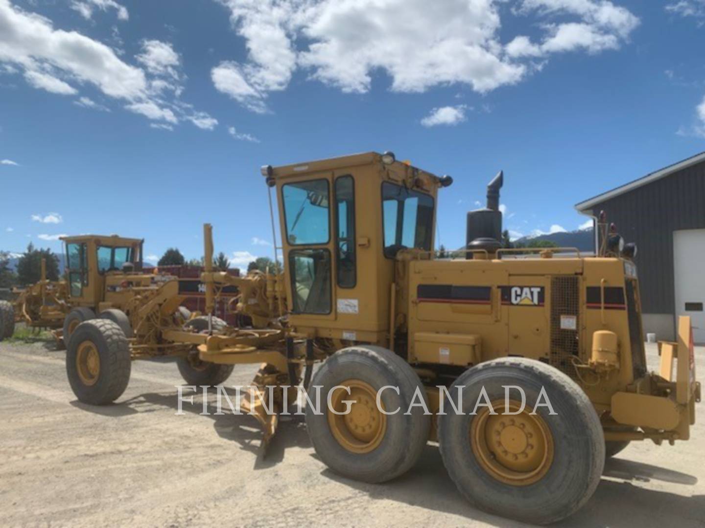
[[[402, 358], [380, 346], [343, 348], [328, 358], [316, 372], [310, 387], [321, 386], [320, 406], [306, 409], [306, 427], [317, 455], [334, 472], [363, 482], [384, 482], [405, 473], [417, 462], [429, 439], [431, 416], [424, 415], [426, 394], [416, 372]], [[347, 415], [336, 415], [327, 405]], [[376, 406], [376, 394], [385, 386], [399, 393], [381, 393], [385, 415]], [[415, 394], [419, 393], [421, 400]], [[309, 396], [314, 400], [315, 394]], [[407, 413], [410, 411], [410, 414]]]

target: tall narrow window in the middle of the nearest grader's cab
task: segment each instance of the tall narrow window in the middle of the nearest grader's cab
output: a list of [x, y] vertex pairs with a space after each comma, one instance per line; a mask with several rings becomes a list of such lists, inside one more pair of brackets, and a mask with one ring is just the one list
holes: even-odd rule
[[338, 286], [355, 287], [355, 184], [352, 176], [341, 176], [336, 191], [336, 266]]

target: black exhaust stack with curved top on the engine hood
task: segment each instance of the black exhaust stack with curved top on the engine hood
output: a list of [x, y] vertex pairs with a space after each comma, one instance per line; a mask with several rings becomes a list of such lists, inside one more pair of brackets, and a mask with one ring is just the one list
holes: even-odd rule
[[[503, 183], [504, 172], [500, 170], [487, 184], [486, 208], [467, 213], [465, 249], [484, 249], [492, 254], [501, 247], [502, 213], [499, 210], [499, 189]], [[472, 258], [472, 253], [467, 253], [467, 258]]]

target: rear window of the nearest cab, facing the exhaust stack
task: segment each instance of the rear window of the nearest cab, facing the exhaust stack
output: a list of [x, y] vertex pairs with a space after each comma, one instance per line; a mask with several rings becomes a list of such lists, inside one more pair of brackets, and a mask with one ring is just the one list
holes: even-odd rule
[[434, 199], [389, 182], [382, 184], [384, 256], [393, 258], [400, 249], [431, 249]]

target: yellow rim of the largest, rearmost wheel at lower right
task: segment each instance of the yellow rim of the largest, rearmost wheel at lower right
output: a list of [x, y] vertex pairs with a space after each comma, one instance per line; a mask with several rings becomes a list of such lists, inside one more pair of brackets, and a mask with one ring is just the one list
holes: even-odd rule
[[544, 477], [553, 463], [553, 435], [544, 419], [517, 401], [492, 402], [496, 415], [483, 408], [472, 420], [470, 445], [477, 462], [491, 477], [513, 486], [528, 486]]

